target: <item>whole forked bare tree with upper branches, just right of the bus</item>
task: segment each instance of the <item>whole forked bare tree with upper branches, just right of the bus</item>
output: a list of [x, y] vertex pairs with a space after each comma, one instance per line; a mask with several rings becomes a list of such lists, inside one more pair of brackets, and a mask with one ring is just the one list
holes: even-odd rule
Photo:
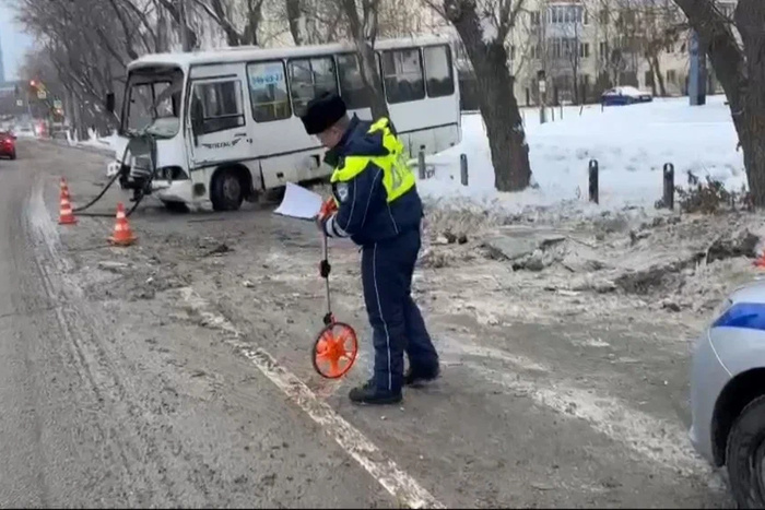
[[475, 73], [479, 106], [499, 191], [518, 191], [531, 180], [529, 146], [518, 110], [506, 41], [525, 0], [443, 0], [428, 4], [457, 29]]

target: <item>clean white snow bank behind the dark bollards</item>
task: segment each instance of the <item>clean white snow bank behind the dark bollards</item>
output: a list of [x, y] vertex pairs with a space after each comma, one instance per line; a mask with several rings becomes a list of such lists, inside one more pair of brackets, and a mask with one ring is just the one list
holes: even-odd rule
[[[554, 122], [539, 123], [539, 110], [523, 111], [537, 188], [498, 193], [482, 118], [462, 118], [462, 142], [428, 158], [432, 178], [417, 186], [431, 203], [491, 207], [507, 214], [531, 209], [601, 213], [625, 206], [652, 209], [661, 198], [662, 167], [672, 163], [675, 183], [687, 171], [722, 181], [729, 190], [746, 182], [743, 154], [723, 96], [691, 107], [687, 98], [657, 99], [625, 107], [555, 108]], [[548, 118], [551, 115], [549, 112]], [[469, 186], [460, 185], [459, 155], [468, 156]], [[600, 206], [588, 200], [588, 164], [600, 169]], [[456, 199], [458, 201], [456, 201]]]

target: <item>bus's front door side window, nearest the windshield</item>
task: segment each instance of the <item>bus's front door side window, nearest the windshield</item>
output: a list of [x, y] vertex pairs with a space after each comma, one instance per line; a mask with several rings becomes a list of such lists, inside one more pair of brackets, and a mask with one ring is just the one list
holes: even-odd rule
[[240, 128], [245, 124], [239, 80], [197, 83], [193, 86], [191, 100], [193, 116], [202, 118], [203, 134]]

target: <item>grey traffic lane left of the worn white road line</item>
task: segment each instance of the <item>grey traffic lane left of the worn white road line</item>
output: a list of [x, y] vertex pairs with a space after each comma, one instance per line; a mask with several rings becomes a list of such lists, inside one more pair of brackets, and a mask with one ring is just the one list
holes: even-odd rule
[[[395, 503], [251, 365], [211, 352], [209, 332], [177, 349], [204, 360], [193, 373], [154, 364], [142, 332], [126, 353], [60, 252], [58, 170], [84, 153], [22, 141], [19, 154], [0, 162], [0, 507]], [[220, 375], [214, 389], [193, 388], [202, 373]]]

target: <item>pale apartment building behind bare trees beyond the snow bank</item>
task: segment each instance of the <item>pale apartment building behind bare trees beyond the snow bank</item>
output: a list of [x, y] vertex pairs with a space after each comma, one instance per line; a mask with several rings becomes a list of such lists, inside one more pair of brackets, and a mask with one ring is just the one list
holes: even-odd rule
[[[734, 0], [719, 1], [732, 13]], [[597, 100], [603, 90], [633, 85], [656, 95], [687, 94], [690, 33], [671, 0], [526, 0], [509, 46], [515, 94], [539, 104]], [[708, 67], [707, 90], [720, 92]]]

